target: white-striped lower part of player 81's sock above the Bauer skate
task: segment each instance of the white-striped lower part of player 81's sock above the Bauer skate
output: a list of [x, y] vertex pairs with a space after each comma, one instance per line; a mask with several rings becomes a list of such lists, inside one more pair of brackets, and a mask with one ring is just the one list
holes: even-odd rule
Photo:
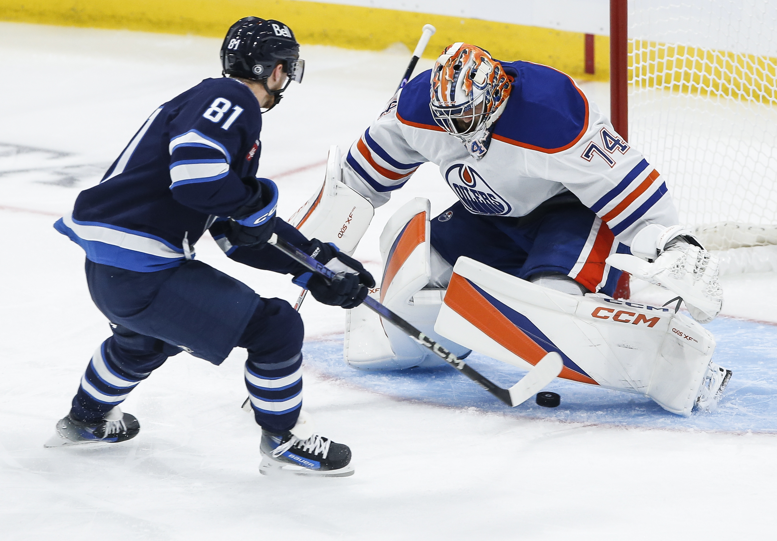
[[256, 422], [267, 431], [291, 430], [302, 407], [302, 354], [283, 362], [260, 363], [249, 355], [246, 387]]

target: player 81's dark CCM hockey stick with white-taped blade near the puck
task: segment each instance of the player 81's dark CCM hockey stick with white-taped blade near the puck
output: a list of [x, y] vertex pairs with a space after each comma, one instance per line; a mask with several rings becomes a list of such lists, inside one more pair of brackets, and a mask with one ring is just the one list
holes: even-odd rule
[[[275, 246], [288, 257], [305, 265], [305, 267], [308, 267], [308, 269], [313, 272], [322, 274], [329, 279], [332, 279], [335, 276], [334, 271], [329, 269], [329, 267], [326, 267], [318, 260], [308, 256], [307, 253], [300, 250], [297, 246], [292, 246], [284, 241], [284, 239], [280, 239], [277, 235], [270, 237], [268, 244]], [[392, 325], [405, 331], [409, 337], [416, 340], [416, 342], [422, 346], [428, 347], [435, 355], [437, 355], [437, 357], [447, 362], [448, 365], [451, 365], [453, 368], [456, 368], [459, 372], [462, 372], [462, 374], [466, 375], [469, 379], [472, 379], [473, 382], [482, 386], [483, 389], [486, 389], [486, 391], [493, 394], [493, 396], [496, 396], [510, 407], [516, 407], [518, 404], [527, 400], [531, 395], [538, 393], [543, 387], [548, 385], [552, 379], [556, 378], [561, 372], [561, 368], [563, 368], [561, 356], [555, 351], [552, 351], [551, 353], [546, 354], [534, 368], [531, 368], [521, 381], [510, 387], [510, 389], [502, 389], [475, 368], [467, 365], [464, 361], [442, 347], [441, 344], [438, 344], [430, 337], [427, 337], [426, 334], [410, 325], [405, 319], [397, 316], [374, 298], [369, 296], [364, 298], [364, 305], [377, 313], [378, 316], [382, 316], [383, 319], [392, 323]]]

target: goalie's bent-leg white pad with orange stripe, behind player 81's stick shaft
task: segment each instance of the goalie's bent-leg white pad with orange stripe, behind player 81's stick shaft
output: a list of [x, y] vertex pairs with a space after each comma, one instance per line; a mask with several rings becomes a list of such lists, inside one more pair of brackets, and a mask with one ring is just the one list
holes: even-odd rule
[[[454, 354], [469, 350], [434, 332], [443, 289], [423, 289], [430, 281], [429, 200], [416, 197], [389, 219], [381, 235], [384, 261], [378, 300]], [[373, 294], [375, 296], [375, 294]], [[364, 305], [346, 319], [343, 357], [348, 365], [366, 370], [392, 370], [443, 364], [426, 347]]]

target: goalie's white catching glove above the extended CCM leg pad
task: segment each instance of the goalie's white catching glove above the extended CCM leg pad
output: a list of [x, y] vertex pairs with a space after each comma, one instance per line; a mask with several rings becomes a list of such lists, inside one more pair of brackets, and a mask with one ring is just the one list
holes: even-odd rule
[[647, 225], [631, 251], [634, 255], [615, 253], [607, 263], [679, 295], [699, 323], [709, 323], [723, 308], [717, 256], [680, 225]]

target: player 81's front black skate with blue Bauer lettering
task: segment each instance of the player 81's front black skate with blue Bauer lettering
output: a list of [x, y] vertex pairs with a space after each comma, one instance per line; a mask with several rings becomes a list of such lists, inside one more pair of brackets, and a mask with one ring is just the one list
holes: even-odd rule
[[273, 434], [262, 431], [262, 463], [259, 473], [292, 473], [294, 475], [346, 477], [354, 475], [350, 466], [350, 449], [329, 438], [312, 435], [301, 440], [291, 432]]

